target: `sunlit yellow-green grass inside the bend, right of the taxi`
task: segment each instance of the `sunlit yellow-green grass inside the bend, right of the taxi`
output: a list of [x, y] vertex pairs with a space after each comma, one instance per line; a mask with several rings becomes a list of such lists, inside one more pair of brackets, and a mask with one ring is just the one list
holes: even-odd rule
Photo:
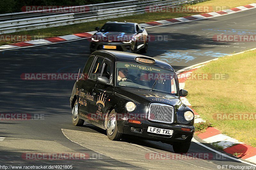
[[224, 80], [186, 81], [188, 100], [204, 120], [230, 137], [256, 146], [256, 120], [216, 120], [214, 114], [256, 113], [256, 51], [212, 61], [194, 73], [225, 73]]

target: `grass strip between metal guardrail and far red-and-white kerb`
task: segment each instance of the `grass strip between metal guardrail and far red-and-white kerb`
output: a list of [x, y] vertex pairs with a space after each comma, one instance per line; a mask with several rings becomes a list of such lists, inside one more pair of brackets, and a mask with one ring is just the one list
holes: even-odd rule
[[[198, 3], [195, 5], [200, 6], [228, 6], [229, 8], [233, 8], [240, 5], [252, 4], [255, 0], [210, 0], [203, 3]], [[171, 18], [178, 18], [184, 17], [189, 15], [196, 15], [199, 13], [144, 13], [140, 15], [133, 15], [127, 17], [120, 17], [120, 18], [113, 18], [113, 19], [106, 19], [106, 20], [99, 20], [99, 21], [92, 21], [86, 22], [81, 24], [75, 25], [68, 25], [68, 26], [58, 26], [53, 28], [45, 28], [45, 29], [37, 29], [31, 31], [21, 31], [16, 33], [9, 33], [12, 35], [30, 35], [33, 37], [41, 38], [49, 38], [49, 37], [56, 37], [74, 33], [83, 33], [88, 31], [94, 31], [96, 26], [102, 26], [105, 22], [112, 20], [112, 21], [127, 21], [127, 22], [135, 22], [135, 23], [145, 23], [150, 21], [156, 20], [163, 20], [163, 19], [171, 19]], [[15, 42], [0, 42], [0, 45], [10, 44]]]

